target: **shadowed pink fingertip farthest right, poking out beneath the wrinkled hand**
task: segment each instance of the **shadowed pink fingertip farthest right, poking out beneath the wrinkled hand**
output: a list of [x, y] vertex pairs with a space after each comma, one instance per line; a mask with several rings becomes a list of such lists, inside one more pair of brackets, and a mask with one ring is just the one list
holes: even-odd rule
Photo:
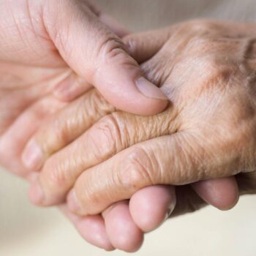
[[235, 177], [197, 181], [192, 184], [192, 188], [206, 203], [223, 211], [236, 206], [239, 199]]

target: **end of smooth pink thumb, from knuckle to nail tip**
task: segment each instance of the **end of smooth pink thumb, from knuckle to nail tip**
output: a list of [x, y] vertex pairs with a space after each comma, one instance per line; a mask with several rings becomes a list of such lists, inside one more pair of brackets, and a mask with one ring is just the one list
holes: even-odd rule
[[134, 60], [127, 61], [131, 64], [118, 62], [103, 65], [94, 76], [94, 86], [103, 97], [119, 110], [137, 115], [151, 116], [165, 110], [169, 100], [161, 89], [143, 78], [138, 64]]

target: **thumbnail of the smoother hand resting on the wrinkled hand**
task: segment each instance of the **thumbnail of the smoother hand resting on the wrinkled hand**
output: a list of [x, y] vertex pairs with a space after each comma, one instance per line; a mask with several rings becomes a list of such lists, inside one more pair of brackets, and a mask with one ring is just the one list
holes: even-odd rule
[[165, 100], [168, 99], [165, 96], [165, 94], [161, 91], [161, 89], [159, 89], [153, 83], [146, 80], [146, 78], [138, 78], [138, 80], [136, 80], [136, 86], [138, 90], [148, 98]]

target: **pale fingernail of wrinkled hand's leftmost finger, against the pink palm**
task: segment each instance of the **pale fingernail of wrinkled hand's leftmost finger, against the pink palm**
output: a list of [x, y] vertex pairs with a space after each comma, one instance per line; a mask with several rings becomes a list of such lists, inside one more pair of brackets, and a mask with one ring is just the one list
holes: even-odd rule
[[23, 151], [22, 160], [23, 164], [30, 170], [39, 170], [42, 166], [44, 156], [41, 149], [37, 146], [34, 140], [32, 140]]

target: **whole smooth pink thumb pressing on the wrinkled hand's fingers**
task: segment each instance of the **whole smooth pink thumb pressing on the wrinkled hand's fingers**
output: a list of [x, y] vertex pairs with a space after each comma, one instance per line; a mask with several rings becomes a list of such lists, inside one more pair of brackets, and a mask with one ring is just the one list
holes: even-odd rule
[[121, 39], [85, 1], [49, 1], [45, 12], [45, 28], [61, 57], [108, 102], [141, 115], [165, 109], [165, 94], [143, 78]]

